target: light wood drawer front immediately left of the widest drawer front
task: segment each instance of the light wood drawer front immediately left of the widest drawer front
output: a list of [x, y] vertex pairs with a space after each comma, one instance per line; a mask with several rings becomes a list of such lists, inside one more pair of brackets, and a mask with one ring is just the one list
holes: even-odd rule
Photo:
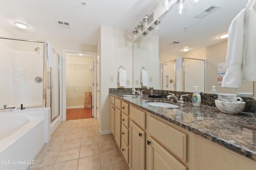
[[136, 122], [140, 127], [145, 129], [145, 115], [143, 111], [140, 111], [132, 106], [130, 106], [130, 118]]

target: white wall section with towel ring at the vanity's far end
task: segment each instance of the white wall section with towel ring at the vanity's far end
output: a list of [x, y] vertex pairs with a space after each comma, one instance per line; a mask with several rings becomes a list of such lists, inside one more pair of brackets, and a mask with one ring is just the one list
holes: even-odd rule
[[[100, 133], [110, 131], [110, 96], [109, 88], [119, 88], [117, 83], [118, 67], [122, 64], [126, 67], [127, 79], [132, 88], [132, 42], [128, 31], [101, 27], [100, 31]], [[110, 76], [114, 81], [110, 81]]]

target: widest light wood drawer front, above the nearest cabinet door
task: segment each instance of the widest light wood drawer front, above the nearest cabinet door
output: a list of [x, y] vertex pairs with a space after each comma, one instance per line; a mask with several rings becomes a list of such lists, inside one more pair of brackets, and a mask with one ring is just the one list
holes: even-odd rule
[[166, 149], [187, 160], [187, 135], [149, 116], [148, 131]]

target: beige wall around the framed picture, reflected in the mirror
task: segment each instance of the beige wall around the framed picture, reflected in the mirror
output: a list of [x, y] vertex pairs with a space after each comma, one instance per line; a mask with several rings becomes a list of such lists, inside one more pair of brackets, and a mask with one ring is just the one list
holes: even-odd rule
[[[233, 88], [222, 88], [221, 84], [217, 83], [217, 67], [218, 63], [226, 62], [228, 41], [218, 43], [206, 47], [206, 92], [209, 93], [212, 90], [211, 86], [216, 86], [218, 93], [231, 93], [236, 94]], [[239, 92], [251, 92], [252, 93], [252, 82], [248, 82], [242, 85]]]

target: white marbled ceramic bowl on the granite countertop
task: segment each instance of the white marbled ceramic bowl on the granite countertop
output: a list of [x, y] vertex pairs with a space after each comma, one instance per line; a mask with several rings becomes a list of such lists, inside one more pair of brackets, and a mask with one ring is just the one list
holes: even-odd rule
[[237, 114], [244, 110], [245, 102], [223, 102], [215, 100], [216, 107], [223, 113]]

